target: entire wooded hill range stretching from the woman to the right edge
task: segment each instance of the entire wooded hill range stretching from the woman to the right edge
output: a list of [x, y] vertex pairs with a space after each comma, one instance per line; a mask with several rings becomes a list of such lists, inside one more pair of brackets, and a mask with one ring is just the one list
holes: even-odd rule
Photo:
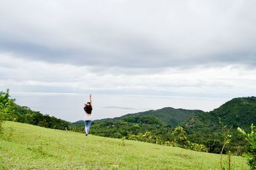
[[[210, 152], [220, 153], [223, 136], [219, 118], [224, 125], [231, 128], [231, 143], [227, 145], [226, 151], [231, 150], [236, 154], [247, 152], [244, 138], [236, 129], [241, 127], [249, 131], [250, 125], [256, 124], [256, 97], [235, 98], [209, 112], [163, 108], [98, 120], [92, 125], [92, 133], [143, 141], [141, 136], [150, 132], [154, 138], [150, 142], [164, 143], [175, 140], [173, 130], [179, 125], [184, 127], [188, 141], [203, 144]], [[83, 127], [80, 131], [83, 131]]]

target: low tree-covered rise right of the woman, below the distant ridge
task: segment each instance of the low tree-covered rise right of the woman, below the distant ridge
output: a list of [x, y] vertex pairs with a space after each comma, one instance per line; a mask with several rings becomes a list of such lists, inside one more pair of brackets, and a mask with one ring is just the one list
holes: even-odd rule
[[[79, 127], [79, 128], [78, 128]], [[73, 131], [82, 132], [84, 125], [76, 126]], [[161, 123], [159, 118], [154, 116], [146, 117], [125, 117], [122, 120], [93, 121], [91, 133], [99, 136], [111, 138], [134, 138], [142, 141], [140, 138], [146, 132], [157, 136], [161, 141], [170, 140], [172, 127]], [[136, 138], [134, 136], [137, 136]]]

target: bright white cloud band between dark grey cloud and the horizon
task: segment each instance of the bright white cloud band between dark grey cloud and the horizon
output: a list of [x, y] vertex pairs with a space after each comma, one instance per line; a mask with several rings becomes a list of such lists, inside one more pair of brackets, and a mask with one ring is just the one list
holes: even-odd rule
[[38, 87], [38, 92], [47, 92], [51, 88], [62, 88], [58, 92], [111, 90], [122, 93], [128, 90], [131, 94], [147, 95], [151, 91], [159, 95], [169, 92], [166, 95], [180, 93], [188, 96], [248, 95], [255, 92], [256, 69], [239, 65], [161, 69], [151, 74], [98, 74], [86, 66], [30, 61], [8, 54], [0, 57], [3, 59], [0, 71], [4, 73], [0, 77], [2, 87]]

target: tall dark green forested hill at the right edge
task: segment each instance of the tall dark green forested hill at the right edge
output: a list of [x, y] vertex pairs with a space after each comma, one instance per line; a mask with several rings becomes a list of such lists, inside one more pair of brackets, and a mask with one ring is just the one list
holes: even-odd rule
[[256, 97], [239, 97], [228, 101], [213, 111], [202, 112], [189, 117], [184, 123], [189, 140], [205, 143], [208, 139], [220, 139], [221, 125], [232, 127], [232, 141], [239, 143], [237, 127], [246, 129], [256, 124]]

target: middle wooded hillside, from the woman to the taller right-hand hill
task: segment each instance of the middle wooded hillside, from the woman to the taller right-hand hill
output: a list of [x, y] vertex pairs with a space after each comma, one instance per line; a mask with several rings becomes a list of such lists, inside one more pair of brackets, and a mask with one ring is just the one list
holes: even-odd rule
[[[201, 112], [200, 110], [162, 108], [127, 114], [122, 117], [95, 120], [92, 124], [91, 133], [97, 136], [145, 141], [143, 135], [149, 132], [152, 139], [147, 140], [148, 142], [165, 143], [174, 140], [172, 132], [175, 126], [191, 115]], [[83, 121], [73, 125], [74, 131], [84, 131]]]

